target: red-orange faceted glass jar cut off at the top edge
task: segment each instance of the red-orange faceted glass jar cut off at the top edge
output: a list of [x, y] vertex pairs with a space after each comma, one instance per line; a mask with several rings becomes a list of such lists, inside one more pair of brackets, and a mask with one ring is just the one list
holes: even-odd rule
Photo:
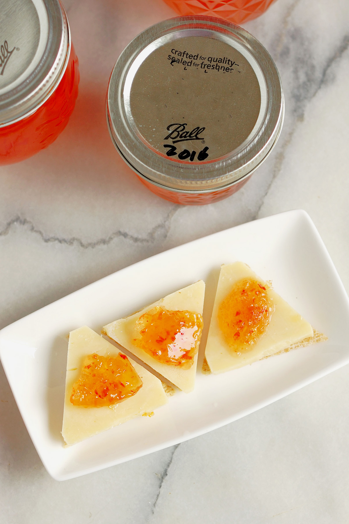
[[164, 0], [178, 15], [206, 15], [224, 18], [233, 24], [262, 15], [275, 0]]

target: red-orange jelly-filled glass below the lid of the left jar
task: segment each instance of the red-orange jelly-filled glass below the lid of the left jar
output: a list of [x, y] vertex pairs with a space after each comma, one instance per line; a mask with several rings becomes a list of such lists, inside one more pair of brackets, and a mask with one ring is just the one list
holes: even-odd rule
[[73, 112], [79, 79], [72, 46], [66, 70], [46, 102], [30, 116], [0, 127], [0, 166], [25, 160], [52, 144]]

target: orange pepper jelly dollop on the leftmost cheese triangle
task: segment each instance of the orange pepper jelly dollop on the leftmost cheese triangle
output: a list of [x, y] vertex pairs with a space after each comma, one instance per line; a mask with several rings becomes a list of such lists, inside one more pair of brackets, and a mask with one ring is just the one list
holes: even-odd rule
[[126, 355], [87, 355], [81, 375], [73, 385], [74, 406], [100, 408], [132, 397], [143, 383]]

